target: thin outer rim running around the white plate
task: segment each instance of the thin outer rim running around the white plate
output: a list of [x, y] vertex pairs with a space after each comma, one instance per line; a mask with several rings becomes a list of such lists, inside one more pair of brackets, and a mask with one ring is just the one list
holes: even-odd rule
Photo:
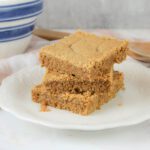
[[[132, 62], [131, 63], [135, 63], [135, 62]], [[138, 65], [141, 65], [141, 64], [138, 64]], [[142, 65], [141, 65], [142, 66]], [[149, 70], [149, 68], [146, 68], [144, 66], [142, 66], [143, 68]], [[3, 96], [1, 94], [2, 92], [2, 85], [5, 84], [5, 82], [7, 80], [9, 80], [9, 78], [13, 78], [14, 76], [20, 74], [21, 72], [24, 72], [26, 69], [33, 69], [33, 68], [39, 68], [39, 65], [36, 65], [36, 66], [30, 66], [30, 67], [25, 67], [23, 69], [21, 69], [20, 71], [8, 76], [7, 78], [5, 78], [3, 81], [2, 81], [2, 84], [0, 86], [0, 95]], [[3, 97], [5, 99], [5, 97]], [[2, 99], [2, 98], [1, 98]], [[43, 121], [43, 120], [39, 120], [39, 119], [36, 119], [36, 118], [33, 118], [33, 116], [31, 115], [30, 118], [27, 117], [27, 114], [22, 114], [22, 113], [18, 113], [18, 111], [16, 109], [12, 109], [12, 108], [8, 108], [8, 105], [6, 104], [5, 105], [5, 100], [1, 100], [0, 99], [0, 107], [11, 113], [12, 115], [14, 115], [15, 117], [21, 119], [21, 120], [24, 120], [24, 121], [28, 121], [28, 122], [31, 122], [31, 123], [36, 123], [36, 124], [40, 124], [40, 125], [43, 125], [43, 126], [47, 126], [47, 127], [50, 127], [50, 128], [54, 128], [54, 129], [65, 129], [65, 130], [84, 130], [84, 131], [97, 131], [97, 130], [106, 130], [106, 129], [113, 129], [113, 128], [117, 128], [117, 127], [127, 127], [127, 126], [132, 126], [132, 125], [136, 125], [136, 124], [139, 124], [139, 123], [142, 123], [142, 122], [145, 122], [147, 120], [150, 119], [150, 113], [147, 112], [147, 109], [142, 112], [140, 116], [138, 117], [135, 117], [135, 115], [133, 115], [132, 117], [130, 117], [129, 120], [127, 121], [123, 121], [123, 122], [113, 122], [111, 124], [105, 124], [105, 125], [92, 125], [92, 126], [88, 126], [88, 125], [73, 125], [72, 123], [69, 123], [68, 125], [67, 124], [63, 124], [63, 123], [51, 123], [51, 122], [47, 122], [47, 121]], [[83, 116], [84, 117], [84, 116]]]

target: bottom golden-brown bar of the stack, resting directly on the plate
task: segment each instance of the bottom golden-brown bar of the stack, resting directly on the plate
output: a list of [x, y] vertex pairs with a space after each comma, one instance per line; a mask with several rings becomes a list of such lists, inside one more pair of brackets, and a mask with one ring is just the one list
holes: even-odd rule
[[51, 94], [44, 85], [38, 85], [32, 90], [34, 102], [47, 102], [47, 105], [64, 109], [80, 115], [88, 115], [99, 109], [104, 103], [115, 97], [116, 93], [123, 88], [123, 74], [114, 73], [112, 89], [109, 92], [96, 94], [85, 92], [83, 94]]

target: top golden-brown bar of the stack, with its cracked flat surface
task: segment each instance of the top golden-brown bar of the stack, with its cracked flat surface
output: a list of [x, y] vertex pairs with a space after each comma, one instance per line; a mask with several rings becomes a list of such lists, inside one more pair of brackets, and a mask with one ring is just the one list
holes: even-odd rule
[[78, 31], [40, 51], [41, 65], [80, 79], [108, 78], [114, 63], [126, 58], [128, 42]]

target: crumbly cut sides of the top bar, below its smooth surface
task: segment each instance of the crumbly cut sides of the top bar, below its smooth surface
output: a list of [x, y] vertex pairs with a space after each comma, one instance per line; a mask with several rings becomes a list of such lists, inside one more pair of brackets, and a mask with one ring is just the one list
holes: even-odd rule
[[121, 63], [127, 56], [128, 48], [120, 49], [110, 57], [105, 57], [101, 62], [94, 62], [92, 67], [80, 68], [70, 64], [67, 61], [59, 60], [53, 56], [47, 56], [44, 53], [40, 53], [39, 59], [42, 67], [46, 67], [50, 71], [67, 73], [74, 75], [79, 79], [95, 80], [97, 77], [108, 79], [110, 76], [110, 69], [114, 63]]

